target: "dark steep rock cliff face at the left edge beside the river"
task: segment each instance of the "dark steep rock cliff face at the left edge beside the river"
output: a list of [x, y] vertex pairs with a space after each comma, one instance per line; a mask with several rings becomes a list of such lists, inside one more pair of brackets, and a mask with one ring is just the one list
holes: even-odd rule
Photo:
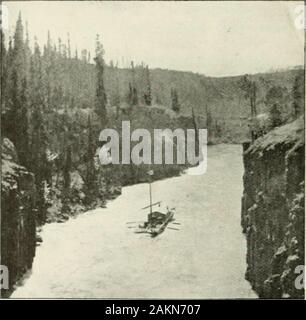
[[8, 297], [35, 255], [35, 187], [33, 175], [17, 164], [14, 145], [6, 138], [1, 160], [1, 265], [9, 270], [9, 289], [1, 296]]

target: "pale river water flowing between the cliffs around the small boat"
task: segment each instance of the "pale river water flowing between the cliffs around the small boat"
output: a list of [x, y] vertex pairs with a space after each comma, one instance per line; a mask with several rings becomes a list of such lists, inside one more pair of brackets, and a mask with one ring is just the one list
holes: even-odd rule
[[147, 184], [123, 188], [107, 208], [42, 230], [31, 275], [13, 298], [254, 298], [244, 279], [240, 227], [242, 148], [208, 148], [204, 175], [152, 184], [153, 202], [176, 207], [176, 221], [156, 238], [135, 234]]

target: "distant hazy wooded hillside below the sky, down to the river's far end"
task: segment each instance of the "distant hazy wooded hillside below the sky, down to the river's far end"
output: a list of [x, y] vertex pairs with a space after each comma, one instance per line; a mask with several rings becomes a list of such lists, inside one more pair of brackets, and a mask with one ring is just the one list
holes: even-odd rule
[[[129, 83], [135, 83], [138, 91], [139, 107], [145, 107], [142, 99], [145, 91], [141, 66], [132, 69], [120, 69], [106, 66], [105, 89], [109, 107], [114, 105], [113, 98], [118, 92], [120, 105], [126, 106]], [[82, 74], [82, 80], [79, 74]], [[268, 112], [265, 97], [272, 87], [281, 87], [283, 98], [281, 113], [287, 121], [292, 114], [292, 88], [296, 77], [303, 77], [303, 69], [275, 71], [250, 75], [249, 79], [257, 85], [257, 112]], [[162, 108], [171, 108], [171, 89], [178, 92], [180, 114], [191, 116], [192, 109], [198, 117], [201, 127], [207, 126], [207, 116], [211, 117], [209, 131], [211, 136], [218, 136], [223, 142], [241, 142], [248, 137], [247, 119], [251, 116], [248, 99], [241, 90], [240, 81], [243, 75], [235, 77], [207, 77], [192, 72], [150, 69], [152, 104]], [[75, 104], [78, 108], [94, 105], [95, 99], [95, 66], [89, 63], [75, 63], [64, 72], [62, 81], [66, 92], [75, 92]], [[209, 127], [209, 125], [208, 125]], [[221, 139], [220, 139], [221, 138]]]

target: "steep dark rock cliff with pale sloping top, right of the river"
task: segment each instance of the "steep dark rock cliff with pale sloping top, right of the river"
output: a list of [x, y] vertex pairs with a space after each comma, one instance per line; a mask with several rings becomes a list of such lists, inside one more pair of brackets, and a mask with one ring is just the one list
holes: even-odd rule
[[246, 278], [261, 298], [303, 298], [295, 287], [295, 269], [304, 265], [303, 119], [243, 147]]

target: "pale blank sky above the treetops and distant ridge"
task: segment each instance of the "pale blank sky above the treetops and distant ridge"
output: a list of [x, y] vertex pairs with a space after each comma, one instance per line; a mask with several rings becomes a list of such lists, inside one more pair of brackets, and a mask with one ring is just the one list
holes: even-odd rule
[[[93, 55], [100, 34], [105, 60], [207, 76], [265, 72], [304, 64], [303, 2], [4, 1], [12, 34], [19, 11], [31, 42], [70, 34], [72, 50]], [[298, 7], [299, 6], [299, 7]]]

